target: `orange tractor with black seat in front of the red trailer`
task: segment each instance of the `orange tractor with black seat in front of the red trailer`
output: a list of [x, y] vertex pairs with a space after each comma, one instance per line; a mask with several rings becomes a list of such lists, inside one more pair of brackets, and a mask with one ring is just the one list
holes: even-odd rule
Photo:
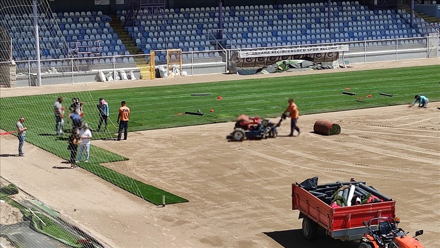
[[[372, 223], [378, 222], [377, 227]], [[414, 237], [406, 236], [405, 231], [398, 228], [400, 219], [397, 217], [373, 218], [370, 221], [363, 221], [368, 233], [359, 243], [359, 248], [423, 248], [423, 245], [415, 237], [423, 234], [423, 230], [415, 232]]]

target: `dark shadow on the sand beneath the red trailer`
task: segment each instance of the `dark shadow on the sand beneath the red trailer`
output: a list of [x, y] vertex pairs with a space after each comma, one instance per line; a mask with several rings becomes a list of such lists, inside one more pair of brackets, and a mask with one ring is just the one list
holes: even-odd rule
[[309, 241], [304, 238], [301, 229], [285, 230], [264, 233], [268, 237], [275, 240], [284, 248], [358, 248], [359, 243], [354, 241], [340, 241], [326, 236], [325, 230], [320, 229], [315, 240]]

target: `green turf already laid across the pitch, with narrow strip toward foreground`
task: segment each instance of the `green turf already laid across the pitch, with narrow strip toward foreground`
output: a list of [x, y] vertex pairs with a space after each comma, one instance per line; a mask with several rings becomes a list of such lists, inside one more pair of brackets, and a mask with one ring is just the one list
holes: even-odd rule
[[[287, 99], [293, 97], [300, 115], [333, 112], [341, 110], [382, 107], [409, 104], [415, 94], [422, 94], [430, 102], [440, 100], [440, 66], [367, 70], [356, 72], [327, 73], [283, 78], [251, 79], [202, 84], [170, 85], [158, 87], [129, 88], [86, 92], [85, 121], [93, 130], [97, 126], [97, 100], [104, 97], [110, 106], [110, 118], [116, 124], [120, 101], [125, 100], [131, 108], [129, 131], [173, 128], [232, 121], [240, 114], [260, 117], [277, 117], [287, 106]], [[178, 80], [178, 79], [176, 79]], [[350, 88], [356, 96], [341, 94]], [[393, 94], [381, 96], [380, 92]], [[89, 95], [90, 93], [90, 95]], [[211, 96], [190, 96], [191, 93], [211, 93]], [[61, 94], [66, 102], [79, 93]], [[372, 97], [366, 97], [371, 94]], [[29, 128], [27, 141], [44, 150], [67, 159], [67, 143], [54, 136], [53, 104], [58, 95], [35, 95], [0, 99], [0, 127], [15, 130], [19, 116], [27, 116], [25, 126]], [[223, 100], [217, 101], [217, 96]], [[357, 97], [362, 97], [359, 100]], [[361, 101], [361, 102], [358, 102]], [[65, 104], [67, 106], [67, 104]], [[38, 106], [36, 108], [36, 106]], [[197, 112], [205, 116], [176, 115], [185, 111]], [[209, 111], [213, 109], [214, 113]], [[92, 118], [91, 118], [92, 117]], [[109, 127], [112, 128], [110, 122]], [[232, 128], [232, 126], [231, 126]], [[93, 133], [94, 138], [110, 138], [109, 133]], [[61, 148], [60, 148], [61, 147]], [[126, 176], [110, 170], [100, 163], [114, 162], [126, 158], [102, 150], [91, 148], [88, 164], [80, 164], [84, 169], [121, 187], [144, 197], [155, 204], [162, 203], [166, 194], [167, 203], [185, 202], [176, 195], [146, 185], [139, 181], [130, 185], [121, 184]], [[137, 187], [140, 190], [137, 190]], [[139, 192], [140, 191], [140, 192]]]

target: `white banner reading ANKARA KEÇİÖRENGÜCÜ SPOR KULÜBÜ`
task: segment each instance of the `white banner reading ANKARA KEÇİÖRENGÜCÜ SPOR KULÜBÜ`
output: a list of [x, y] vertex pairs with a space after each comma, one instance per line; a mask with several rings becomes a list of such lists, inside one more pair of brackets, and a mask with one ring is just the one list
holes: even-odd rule
[[337, 53], [337, 52], [347, 52], [347, 51], [349, 51], [348, 45], [300, 47], [300, 48], [266, 50], [266, 51], [240, 51], [238, 52], [238, 58], [287, 56], [287, 55], [297, 55], [297, 54], [322, 54], [322, 53]]

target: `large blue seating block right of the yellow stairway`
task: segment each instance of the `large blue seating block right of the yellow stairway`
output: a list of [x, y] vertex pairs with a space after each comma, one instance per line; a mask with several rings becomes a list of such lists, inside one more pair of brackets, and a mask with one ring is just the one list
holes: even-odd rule
[[[409, 25], [409, 14], [398, 10], [369, 10], [358, 2], [333, 2], [331, 28], [327, 26], [327, 4], [293, 4], [224, 7], [225, 48], [257, 48], [320, 43], [369, 41], [367, 46], [396, 45], [395, 41], [374, 40], [427, 36], [436, 32], [425, 20], [416, 19], [417, 27]], [[121, 22], [124, 11], [118, 12]], [[139, 49], [182, 48], [184, 52], [212, 51], [209, 30], [218, 29], [217, 8], [165, 9], [165, 18], [138, 15], [133, 27], [126, 27]], [[159, 38], [157, 38], [159, 37]], [[213, 38], [217, 38], [214, 36]], [[371, 42], [370, 42], [371, 41]], [[401, 45], [426, 40], [400, 41]], [[363, 43], [350, 44], [351, 48]], [[160, 54], [160, 53], [159, 53]], [[217, 54], [207, 53], [209, 57]], [[165, 56], [156, 60], [163, 61]]]

